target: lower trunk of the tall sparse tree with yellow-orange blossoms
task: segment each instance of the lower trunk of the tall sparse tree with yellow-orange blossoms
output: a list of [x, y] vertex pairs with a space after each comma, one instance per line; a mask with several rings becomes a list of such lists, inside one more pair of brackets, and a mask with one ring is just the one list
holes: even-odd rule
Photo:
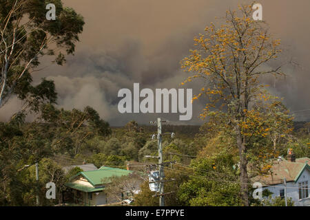
[[239, 148], [240, 157], [240, 187], [241, 187], [241, 197], [244, 206], [249, 206], [249, 195], [248, 195], [248, 176], [247, 176], [247, 155], [246, 155], [246, 145], [245, 138], [242, 137], [240, 126], [236, 126], [237, 132], [237, 145]]

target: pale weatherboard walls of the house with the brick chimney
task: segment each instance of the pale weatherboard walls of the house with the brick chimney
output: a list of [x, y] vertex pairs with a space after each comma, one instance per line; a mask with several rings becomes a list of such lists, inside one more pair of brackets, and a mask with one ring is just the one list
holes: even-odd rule
[[[297, 182], [291, 181], [287, 182], [287, 198], [291, 197], [294, 201], [294, 206], [310, 206], [310, 198], [299, 199], [299, 192], [298, 192], [298, 183], [308, 181], [308, 188], [310, 184], [310, 171], [304, 169], [302, 174], [300, 175]], [[280, 190], [284, 189], [284, 184], [278, 184], [275, 186], [268, 186], [262, 188], [262, 190], [268, 189], [273, 194], [272, 197], [280, 197]], [[309, 194], [310, 191], [308, 190]]]

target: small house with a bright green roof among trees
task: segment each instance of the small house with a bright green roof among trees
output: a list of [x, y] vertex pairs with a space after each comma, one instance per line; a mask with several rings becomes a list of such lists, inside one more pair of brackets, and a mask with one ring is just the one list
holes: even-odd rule
[[109, 201], [105, 195], [105, 186], [111, 182], [110, 178], [121, 177], [130, 173], [132, 173], [131, 170], [101, 166], [98, 170], [77, 173], [65, 186], [71, 193], [74, 203], [99, 206]]

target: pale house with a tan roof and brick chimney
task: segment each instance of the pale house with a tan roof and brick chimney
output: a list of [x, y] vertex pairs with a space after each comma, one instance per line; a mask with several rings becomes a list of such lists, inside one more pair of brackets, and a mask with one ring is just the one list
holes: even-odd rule
[[310, 206], [310, 159], [295, 158], [290, 150], [287, 159], [281, 158], [271, 166], [271, 174], [255, 177], [260, 182], [262, 190], [272, 192], [272, 197], [285, 197], [284, 179], [287, 181], [287, 198], [291, 197], [294, 206]]

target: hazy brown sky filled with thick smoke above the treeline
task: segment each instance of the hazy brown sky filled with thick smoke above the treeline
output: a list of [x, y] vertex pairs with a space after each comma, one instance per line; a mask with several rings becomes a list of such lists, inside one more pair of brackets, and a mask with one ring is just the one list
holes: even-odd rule
[[[86, 105], [99, 111], [113, 126], [129, 120], [146, 124], [156, 114], [121, 114], [117, 110], [117, 92], [141, 88], [178, 88], [186, 78], [180, 60], [189, 54], [194, 36], [202, 33], [214, 17], [225, 15], [229, 8], [238, 9], [234, 0], [63, 0], [85, 19], [81, 42], [75, 56], [67, 58], [63, 67], [50, 66], [36, 72], [34, 80], [47, 77], [54, 80], [59, 94], [59, 106], [83, 109]], [[263, 19], [270, 32], [282, 39], [286, 53], [300, 66], [287, 67], [285, 80], [271, 90], [285, 98], [289, 109], [310, 109], [310, 1], [265, 0]], [[43, 61], [42, 65], [47, 65]], [[187, 85], [195, 88], [195, 84]], [[194, 89], [195, 91], [195, 89]], [[0, 111], [0, 120], [17, 109], [13, 99]], [[193, 106], [194, 115], [187, 124], [201, 124], [197, 118], [203, 102]], [[302, 114], [302, 115], [301, 115]], [[161, 117], [178, 121], [177, 114]], [[310, 111], [298, 112], [298, 120], [310, 119]], [[184, 123], [183, 123], [184, 124]]]

